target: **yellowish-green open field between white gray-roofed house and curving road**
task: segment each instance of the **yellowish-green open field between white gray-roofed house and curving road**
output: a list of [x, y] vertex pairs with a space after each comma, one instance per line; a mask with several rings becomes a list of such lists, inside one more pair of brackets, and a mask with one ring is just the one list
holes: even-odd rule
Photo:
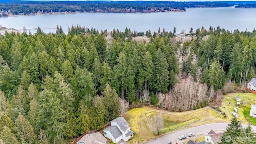
[[132, 140], [128, 141], [130, 144], [136, 144], [136, 141], [141, 144], [158, 137], [153, 134], [146, 122], [146, 116], [148, 119], [151, 119], [151, 117], [154, 117], [154, 114], [157, 113], [163, 114], [164, 132], [178, 130], [179, 128], [188, 126], [194, 122], [198, 122], [212, 116], [216, 116], [218, 114], [218, 112], [215, 112], [209, 107], [187, 112], [169, 112], [165, 110], [156, 110], [146, 106], [143, 108], [134, 108], [129, 110], [126, 116], [124, 116], [129, 123], [131, 130], [134, 131], [134, 137]]

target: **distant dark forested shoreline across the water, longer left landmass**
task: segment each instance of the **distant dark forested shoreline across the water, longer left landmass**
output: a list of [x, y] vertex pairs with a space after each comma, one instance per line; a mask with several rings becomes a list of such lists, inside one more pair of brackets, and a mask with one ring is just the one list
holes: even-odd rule
[[183, 12], [186, 8], [234, 6], [227, 2], [168, 2], [168, 1], [9, 1], [0, 3], [0, 16], [27, 14], [60, 14], [74, 12]]

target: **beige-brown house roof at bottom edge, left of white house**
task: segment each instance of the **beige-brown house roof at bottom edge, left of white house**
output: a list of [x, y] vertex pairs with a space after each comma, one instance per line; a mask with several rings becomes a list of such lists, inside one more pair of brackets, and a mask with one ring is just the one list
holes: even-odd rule
[[107, 144], [107, 139], [99, 132], [86, 134], [76, 144]]

